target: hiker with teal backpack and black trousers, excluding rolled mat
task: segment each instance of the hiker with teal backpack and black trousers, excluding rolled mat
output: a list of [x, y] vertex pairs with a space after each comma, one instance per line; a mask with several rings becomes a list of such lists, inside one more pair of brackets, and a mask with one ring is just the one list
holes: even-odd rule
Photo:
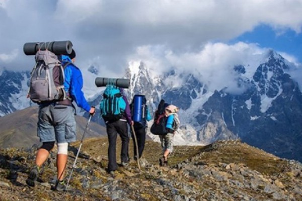
[[100, 103], [101, 116], [106, 124], [108, 147], [108, 173], [114, 176], [117, 170], [116, 163], [116, 140], [119, 134], [122, 140], [121, 147], [121, 165], [126, 166], [129, 162], [128, 147], [128, 125], [133, 125], [128, 100], [124, 94], [123, 88], [114, 84], [108, 84], [103, 93], [103, 99]]

